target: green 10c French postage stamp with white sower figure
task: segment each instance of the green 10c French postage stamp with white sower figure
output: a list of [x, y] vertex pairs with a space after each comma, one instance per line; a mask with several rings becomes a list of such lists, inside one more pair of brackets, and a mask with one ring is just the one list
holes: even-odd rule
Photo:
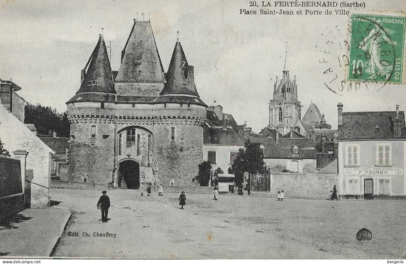
[[352, 14], [348, 80], [403, 82], [405, 17]]

